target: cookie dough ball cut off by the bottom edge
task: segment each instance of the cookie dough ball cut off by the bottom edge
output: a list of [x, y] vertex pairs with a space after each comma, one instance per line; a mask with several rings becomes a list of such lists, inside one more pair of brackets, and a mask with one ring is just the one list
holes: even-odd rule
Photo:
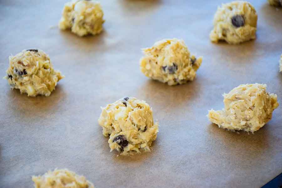
[[35, 188], [94, 188], [82, 175], [67, 169], [48, 171], [43, 176], [32, 176]]

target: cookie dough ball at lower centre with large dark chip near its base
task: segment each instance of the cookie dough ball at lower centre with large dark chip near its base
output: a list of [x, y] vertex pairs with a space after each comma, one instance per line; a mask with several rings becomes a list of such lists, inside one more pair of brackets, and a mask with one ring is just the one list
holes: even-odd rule
[[123, 155], [150, 151], [159, 124], [154, 123], [152, 108], [145, 101], [125, 97], [101, 109], [98, 123], [104, 136], [110, 135], [111, 151], [116, 149]]

